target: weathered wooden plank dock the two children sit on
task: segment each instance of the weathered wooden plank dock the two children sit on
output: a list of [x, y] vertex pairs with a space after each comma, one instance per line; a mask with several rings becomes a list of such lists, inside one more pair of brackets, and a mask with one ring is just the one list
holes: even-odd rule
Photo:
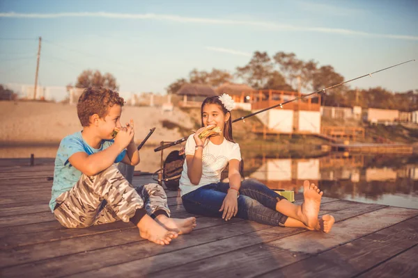
[[[192, 234], [159, 246], [130, 223], [61, 227], [48, 207], [53, 160], [26, 165], [0, 160], [0, 277], [418, 277], [415, 209], [323, 197], [331, 234], [198, 217]], [[167, 195], [173, 217], [189, 216]]]

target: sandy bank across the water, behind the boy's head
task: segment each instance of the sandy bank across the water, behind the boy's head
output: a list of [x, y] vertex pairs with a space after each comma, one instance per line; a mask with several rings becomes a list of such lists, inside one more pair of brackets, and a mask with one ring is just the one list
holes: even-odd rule
[[[121, 122], [134, 119], [135, 138], [141, 142], [150, 129], [157, 129], [147, 144], [183, 138], [178, 129], [162, 127], [163, 120], [170, 120], [192, 131], [190, 116], [178, 108], [172, 113], [161, 112], [158, 107], [124, 106]], [[42, 102], [0, 101], [0, 144], [30, 145], [59, 144], [65, 136], [82, 129], [77, 108], [69, 104]]]

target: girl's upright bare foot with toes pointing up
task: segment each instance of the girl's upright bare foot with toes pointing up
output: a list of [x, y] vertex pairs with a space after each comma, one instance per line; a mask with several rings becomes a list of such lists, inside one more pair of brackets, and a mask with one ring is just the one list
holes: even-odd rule
[[309, 181], [303, 183], [303, 197], [304, 202], [302, 204], [302, 214], [306, 219], [304, 222], [310, 229], [316, 229], [318, 227], [318, 213], [320, 207], [320, 199], [323, 192], [315, 186], [314, 183], [309, 185]]

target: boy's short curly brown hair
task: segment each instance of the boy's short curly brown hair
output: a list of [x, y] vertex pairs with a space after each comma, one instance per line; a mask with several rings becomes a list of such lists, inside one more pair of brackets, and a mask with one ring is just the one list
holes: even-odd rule
[[107, 111], [114, 104], [123, 106], [125, 101], [118, 92], [106, 88], [86, 88], [79, 97], [77, 115], [82, 126], [90, 125], [90, 116], [98, 114], [100, 118], [107, 115]]

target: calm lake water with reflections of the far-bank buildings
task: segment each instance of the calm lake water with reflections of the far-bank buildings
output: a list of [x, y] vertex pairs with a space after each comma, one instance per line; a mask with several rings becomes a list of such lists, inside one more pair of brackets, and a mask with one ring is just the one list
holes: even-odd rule
[[[0, 158], [54, 158], [57, 147], [0, 147]], [[164, 151], [167, 156], [173, 147]], [[418, 156], [388, 156], [332, 153], [320, 157], [283, 152], [254, 152], [245, 158], [245, 176], [258, 179], [272, 189], [302, 191], [305, 179], [318, 184], [324, 196], [357, 202], [418, 208]], [[135, 170], [155, 172], [160, 152], [141, 149]]]

